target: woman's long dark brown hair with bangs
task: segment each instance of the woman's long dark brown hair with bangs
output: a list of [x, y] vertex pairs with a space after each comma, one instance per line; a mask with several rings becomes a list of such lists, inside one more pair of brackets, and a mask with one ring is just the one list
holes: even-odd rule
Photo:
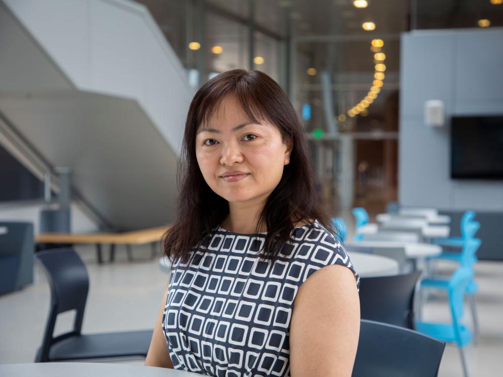
[[238, 99], [250, 120], [266, 120], [281, 132], [283, 141], [293, 139], [290, 163], [284, 166], [280, 182], [266, 200], [256, 233], [267, 229], [262, 260], [275, 260], [290, 240], [294, 224], [318, 222], [333, 233], [324, 212], [307, 149], [305, 131], [281, 87], [260, 71], [233, 69], [206, 82], [197, 91], [187, 114], [182, 153], [178, 164], [180, 195], [174, 225], [164, 234], [164, 253], [172, 261], [190, 259], [194, 247], [229, 213], [229, 204], [215, 194], [203, 178], [196, 159], [196, 135], [227, 95]]

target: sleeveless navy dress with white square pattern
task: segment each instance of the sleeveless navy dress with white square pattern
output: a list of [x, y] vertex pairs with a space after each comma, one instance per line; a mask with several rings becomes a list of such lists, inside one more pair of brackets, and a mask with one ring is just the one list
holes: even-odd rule
[[175, 369], [226, 377], [289, 376], [289, 328], [299, 287], [331, 264], [360, 278], [341, 244], [318, 221], [295, 228], [278, 260], [259, 261], [265, 233], [216, 227], [171, 268], [162, 330]]

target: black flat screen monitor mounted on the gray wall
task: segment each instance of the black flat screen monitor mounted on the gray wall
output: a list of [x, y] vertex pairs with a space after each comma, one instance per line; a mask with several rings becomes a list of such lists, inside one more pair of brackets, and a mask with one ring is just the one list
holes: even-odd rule
[[451, 178], [503, 179], [503, 115], [452, 118]]

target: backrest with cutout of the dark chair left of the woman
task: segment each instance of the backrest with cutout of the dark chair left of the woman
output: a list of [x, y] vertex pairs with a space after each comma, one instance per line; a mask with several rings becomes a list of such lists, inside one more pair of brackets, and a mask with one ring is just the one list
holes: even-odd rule
[[[44, 331], [39, 357], [47, 361], [51, 344], [71, 335], [78, 335], [89, 292], [89, 275], [86, 266], [72, 248], [44, 250], [36, 254], [46, 271], [51, 288], [51, 306]], [[57, 315], [75, 310], [73, 330], [53, 337]]]

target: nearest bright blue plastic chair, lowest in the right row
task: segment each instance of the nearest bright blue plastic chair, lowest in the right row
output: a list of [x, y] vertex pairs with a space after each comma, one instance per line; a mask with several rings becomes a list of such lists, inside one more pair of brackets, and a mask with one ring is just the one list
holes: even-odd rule
[[417, 321], [416, 330], [433, 338], [456, 343], [458, 346], [464, 376], [468, 377], [466, 358], [463, 347], [472, 341], [470, 329], [461, 324], [463, 317], [463, 298], [470, 281], [473, 279], [473, 270], [461, 265], [448, 280], [449, 307], [452, 315], [452, 323], [431, 323]]

